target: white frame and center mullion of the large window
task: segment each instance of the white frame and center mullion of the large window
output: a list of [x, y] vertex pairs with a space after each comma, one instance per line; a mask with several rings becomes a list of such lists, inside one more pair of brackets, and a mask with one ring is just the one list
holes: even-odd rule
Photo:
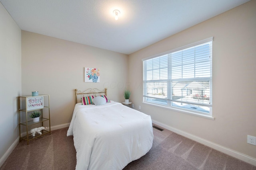
[[[168, 55], [170, 53], [174, 53], [174, 52], [177, 52], [177, 51], [180, 51], [180, 50], [188, 49], [190, 47], [194, 47], [194, 46], [201, 45], [201, 44], [208, 43], [208, 42], [211, 42], [212, 43], [211, 45], [213, 46], [213, 37], [209, 37], [207, 39], [204, 39], [204, 40], [201, 40], [201, 41], [197, 41], [197, 42], [191, 43], [189, 45], [185, 45], [185, 46], [182, 46], [182, 47], [179, 47], [179, 48], [176, 48], [176, 49], [172, 49], [170, 51], [166, 51], [164, 53], [160, 53], [158, 55], [154, 55], [154, 56], [142, 59], [142, 62], [143, 62], [143, 103], [151, 105], [151, 106], [162, 107], [162, 108], [165, 108], [165, 109], [170, 109], [170, 110], [178, 111], [178, 112], [181, 112], [181, 113], [186, 113], [186, 114], [190, 114], [190, 115], [204, 117], [204, 118], [207, 118], [207, 119], [214, 119], [214, 117], [212, 116], [212, 46], [211, 46], [211, 51], [210, 51], [210, 57], [211, 57], [211, 61], [210, 61], [210, 77], [207, 76], [205, 78], [204, 77], [200, 77], [200, 78], [184, 78], [184, 79], [181, 79], [181, 80], [187, 80], [187, 81], [190, 80], [190, 79], [191, 80], [207, 80], [207, 81], [209, 81], [209, 89], [210, 89], [210, 92], [209, 92], [210, 95], [209, 96], [210, 96], [210, 98], [209, 98], [209, 104], [206, 104], [206, 106], [210, 108], [209, 113], [204, 113], [202, 111], [196, 111], [196, 110], [192, 110], [192, 109], [184, 109], [182, 107], [172, 106], [172, 102], [175, 102], [175, 100], [172, 100], [170, 95], [172, 95], [172, 82], [175, 81], [175, 78], [172, 79], [170, 77], [170, 75], [171, 75], [170, 72], [171, 72], [171, 69], [172, 69], [171, 65], [168, 65], [168, 79], [167, 80], [144, 80], [146, 78], [146, 76], [147, 76], [146, 72], [145, 72], [146, 68], [144, 68], [144, 61], [147, 61], [147, 60], [153, 59], [153, 58], [157, 58], [157, 57], [162, 57], [162, 56]], [[147, 94], [146, 93], [146, 84], [148, 82], [166, 82], [167, 83], [167, 99], [165, 99], [165, 101], [167, 101], [166, 105], [158, 104], [156, 102], [146, 101], [146, 98], [154, 98], [154, 97], [151, 97], [151, 96], [149, 97], [149, 96], [145, 96], [144, 95], [144, 94]], [[156, 98], [156, 99], [159, 99], [159, 98]], [[184, 103], [186, 103], [186, 102], [184, 102]]]

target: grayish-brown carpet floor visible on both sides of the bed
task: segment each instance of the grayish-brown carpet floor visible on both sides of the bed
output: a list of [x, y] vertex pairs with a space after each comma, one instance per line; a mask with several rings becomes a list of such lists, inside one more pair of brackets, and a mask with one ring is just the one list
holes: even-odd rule
[[[150, 151], [124, 170], [256, 170], [256, 166], [164, 129], [154, 129]], [[74, 170], [76, 150], [68, 128], [30, 141], [22, 140], [0, 170]]]

